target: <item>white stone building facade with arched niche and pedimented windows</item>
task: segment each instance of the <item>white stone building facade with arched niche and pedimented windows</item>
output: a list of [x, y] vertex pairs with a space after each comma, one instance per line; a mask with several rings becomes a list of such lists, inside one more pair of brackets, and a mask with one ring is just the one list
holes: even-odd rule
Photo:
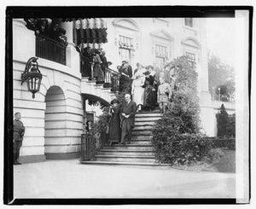
[[[201, 125], [208, 136], [216, 136], [216, 104], [208, 91], [207, 32], [205, 19], [192, 18], [106, 18], [108, 43], [90, 44], [106, 51], [116, 70], [121, 61], [136, 68], [163, 67], [180, 55], [188, 55], [198, 73]], [[20, 150], [21, 161], [69, 159], [79, 157], [80, 136], [86, 117], [96, 118], [99, 107], [92, 107], [86, 96], [110, 102], [115, 93], [80, 73], [80, 55], [76, 49], [76, 20], [61, 22], [66, 30], [65, 62], [38, 56], [35, 32], [23, 19], [13, 20], [14, 112], [20, 112], [26, 133]], [[53, 50], [54, 49], [49, 49]], [[32, 99], [20, 75], [26, 61], [38, 56], [43, 74], [40, 91]], [[230, 111], [232, 108], [230, 108]]]

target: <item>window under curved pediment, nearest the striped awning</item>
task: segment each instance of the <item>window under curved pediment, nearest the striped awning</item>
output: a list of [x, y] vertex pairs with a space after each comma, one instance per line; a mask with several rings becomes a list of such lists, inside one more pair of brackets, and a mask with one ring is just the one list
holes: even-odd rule
[[132, 38], [119, 36], [119, 61], [130, 61], [133, 48]]

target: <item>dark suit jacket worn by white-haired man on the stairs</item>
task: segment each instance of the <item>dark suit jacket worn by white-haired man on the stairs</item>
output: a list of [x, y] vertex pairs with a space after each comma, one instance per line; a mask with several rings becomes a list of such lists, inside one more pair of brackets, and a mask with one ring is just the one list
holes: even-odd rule
[[125, 102], [125, 104], [123, 104], [123, 106], [122, 106], [121, 113], [125, 113], [126, 115], [129, 115], [129, 118], [126, 119], [124, 116], [122, 116], [121, 117], [121, 125], [123, 124], [123, 121], [126, 120], [127, 124], [131, 125], [131, 128], [133, 128], [136, 112], [137, 112], [136, 102], [130, 101], [128, 105]]

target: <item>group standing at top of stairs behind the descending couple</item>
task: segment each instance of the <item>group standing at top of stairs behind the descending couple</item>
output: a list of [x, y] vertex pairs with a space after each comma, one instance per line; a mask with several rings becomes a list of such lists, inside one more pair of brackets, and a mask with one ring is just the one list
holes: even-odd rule
[[139, 111], [152, 111], [159, 103], [160, 110], [166, 112], [176, 79], [171, 67], [166, 66], [162, 71], [155, 71], [153, 66], [143, 67], [137, 63], [132, 75], [131, 66], [127, 61], [123, 61], [119, 73], [119, 91], [126, 90], [131, 93]]

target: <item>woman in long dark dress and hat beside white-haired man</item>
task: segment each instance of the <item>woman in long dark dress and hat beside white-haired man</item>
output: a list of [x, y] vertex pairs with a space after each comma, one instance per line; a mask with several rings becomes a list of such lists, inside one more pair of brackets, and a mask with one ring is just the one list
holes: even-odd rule
[[117, 99], [113, 99], [111, 104], [111, 119], [109, 121], [108, 131], [108, 141], [110, 146], [112, 146], [113, 143], [118, 143], [121, 137], [119, 101]]

